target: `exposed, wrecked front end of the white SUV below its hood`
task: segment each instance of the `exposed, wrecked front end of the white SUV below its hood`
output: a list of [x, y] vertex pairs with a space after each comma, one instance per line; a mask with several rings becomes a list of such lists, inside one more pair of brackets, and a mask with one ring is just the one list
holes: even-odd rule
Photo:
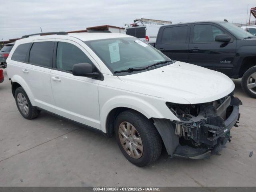
[[219, 154], [230, 141], [230, 129], [238, 126], [241, 104], [232, 94], [204, 104], [166, 103], [180, 121], [154, 119], [154, 125], [170, 157], [206, 158]]

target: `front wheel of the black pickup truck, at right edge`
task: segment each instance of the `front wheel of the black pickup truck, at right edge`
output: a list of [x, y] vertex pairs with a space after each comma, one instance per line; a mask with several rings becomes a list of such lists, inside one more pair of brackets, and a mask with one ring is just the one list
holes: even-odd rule
[[250, 97], [256, 98], [256, 66], [251, 67], [244, 73], [242, 88]]

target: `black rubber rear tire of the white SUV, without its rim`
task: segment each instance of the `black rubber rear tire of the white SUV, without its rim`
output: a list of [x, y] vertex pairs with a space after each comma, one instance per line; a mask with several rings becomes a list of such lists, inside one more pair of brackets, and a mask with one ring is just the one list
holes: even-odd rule
[[[28, 114], [24, 114], [24, 112], [22, 112], [22, 110], [20, 109], [19, 105], [18, 105], [18, 94], [21, 93], [25, 98], [26, 98], [26, 101], [27, 101], [27, 106], [28, 106]], [[28, 95], [26, 94], [25, 90], [22, 88], [22, 87], [18, 87], [16, 90], [15, 90], [15, 101], [16, 101], [16, 105], [17, 105], [17, 108], [20, 112], [20, 114], [26, 118], [26, 119], [34, 119], [36, 118], [39, 114], [40, 114], [40, 110], [38, 110], [36, 107], [32, 106], [29, 98], [28, 98]]]

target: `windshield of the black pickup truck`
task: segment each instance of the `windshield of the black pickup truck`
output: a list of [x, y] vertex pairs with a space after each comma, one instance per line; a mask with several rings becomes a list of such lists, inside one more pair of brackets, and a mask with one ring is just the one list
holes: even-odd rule
[[222, 22], [222, 23], [220, 23], [220, 25], [223, 26], [224, 28], [226, 28], [227, 30], [229, 30], [234, 36], [236, 36], [239, 39], [244, 39], [246, 37], [253, 37], [252, 34], [250, 34], [249, 32], [246, 32], [242, 28], [240, 28], [232, 23]]

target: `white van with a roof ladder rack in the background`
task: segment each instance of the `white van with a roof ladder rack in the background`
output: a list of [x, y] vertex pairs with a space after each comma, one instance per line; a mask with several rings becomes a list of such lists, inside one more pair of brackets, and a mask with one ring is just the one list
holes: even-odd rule
[[160, 26], [172, 24], [171, 21], [153, 19], [136, 19], [133, 24], [125, 25], [127, 35], [139, 38], [142, 41], [155, 42]]

